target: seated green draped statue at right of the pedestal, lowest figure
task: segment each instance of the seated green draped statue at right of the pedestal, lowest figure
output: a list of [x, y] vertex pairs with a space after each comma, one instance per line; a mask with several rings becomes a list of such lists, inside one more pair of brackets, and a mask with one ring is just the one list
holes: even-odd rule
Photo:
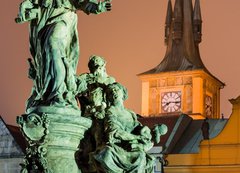
[[146, 153], [153, 143], [150, 129], [142, 126], [123, 101], [127, 90], [119, 83], [107, 86], [108, 108], [104, 120], [105, 144], [95, 152], [98, 172], [153, 173], [154, 158]]

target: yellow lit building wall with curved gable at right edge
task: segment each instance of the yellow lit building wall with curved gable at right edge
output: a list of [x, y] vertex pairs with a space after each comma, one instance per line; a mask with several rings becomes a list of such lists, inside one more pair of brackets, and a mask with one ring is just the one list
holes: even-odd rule
[[203, 140], [197, 154], [169, 154], [166, 173], [240, 172], [240, 96], [230, 102], [233, 111], [223, 131]]

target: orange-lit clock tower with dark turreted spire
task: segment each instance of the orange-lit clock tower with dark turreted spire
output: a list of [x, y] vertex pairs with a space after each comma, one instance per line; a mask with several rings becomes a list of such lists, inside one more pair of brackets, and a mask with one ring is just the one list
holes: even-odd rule
[[142, 115], [185, 113], [193, 119], [220, 118], [220, 89], [224, 83], [204, 66], [199, 43], [202, 18], [199, 0], [168, 1], [165, 57], [155, 68], [139, 74]]

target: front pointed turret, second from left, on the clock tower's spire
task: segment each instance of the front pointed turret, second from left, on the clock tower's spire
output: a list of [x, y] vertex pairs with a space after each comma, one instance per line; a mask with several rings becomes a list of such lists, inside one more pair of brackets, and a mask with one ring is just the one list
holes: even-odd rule
[[180, 40], [183, 29], [183, 0], [175, 1], [173, 19], [173, 40]]

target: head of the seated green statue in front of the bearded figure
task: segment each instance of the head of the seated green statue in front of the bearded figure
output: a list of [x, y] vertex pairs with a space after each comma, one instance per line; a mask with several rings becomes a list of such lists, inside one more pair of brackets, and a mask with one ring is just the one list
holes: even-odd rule
[[120, 83], [113, 83], [107, 86], [106, 98], [110, 103], [114, 101], [124, 101], [128, 98], [127, 89]]

